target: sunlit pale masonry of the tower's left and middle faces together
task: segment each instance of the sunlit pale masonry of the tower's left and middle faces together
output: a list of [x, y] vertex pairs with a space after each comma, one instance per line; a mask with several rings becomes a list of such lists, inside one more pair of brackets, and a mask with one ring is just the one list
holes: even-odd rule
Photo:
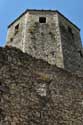
[[[46, 23], [40, 23], [39, 17], [46, 17]], [[19, 32], [14, 35], [17, 24], [20, 26]], [[9, 27], [7, 45], [20, 48], [50, 64], [64, 67], [58, 17], [55, 12], [31, 11], [24, 14]]]

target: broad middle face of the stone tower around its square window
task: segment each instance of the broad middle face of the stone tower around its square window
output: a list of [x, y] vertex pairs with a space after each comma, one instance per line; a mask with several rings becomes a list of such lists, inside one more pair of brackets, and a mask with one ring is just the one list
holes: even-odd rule
[[[64, 67], [57, 14], [33, 11], [29, 15], [25, 52], [50, 64]], [[39, 17], [46, 17], [46, 23], [40, 23]]]

